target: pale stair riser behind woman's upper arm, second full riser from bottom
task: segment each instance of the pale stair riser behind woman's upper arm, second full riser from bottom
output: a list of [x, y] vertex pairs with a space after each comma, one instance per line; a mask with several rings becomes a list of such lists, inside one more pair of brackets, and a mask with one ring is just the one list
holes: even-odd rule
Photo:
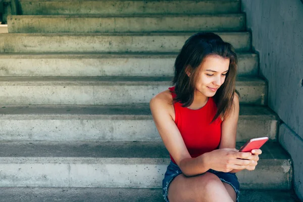
[[[162, 141], [151, 116], [141, 116], [115, 119], [90, 119], [87, 116], [73, 116], [61, 119], [30, 117], [1, 118], [0, 140], [46, 140], [46, 141]], [[239, 117], [237, 141], [247, 141], [250, 138], [268, 136], [276, 141], [278, 122], [275, 120], [258, 120]]]

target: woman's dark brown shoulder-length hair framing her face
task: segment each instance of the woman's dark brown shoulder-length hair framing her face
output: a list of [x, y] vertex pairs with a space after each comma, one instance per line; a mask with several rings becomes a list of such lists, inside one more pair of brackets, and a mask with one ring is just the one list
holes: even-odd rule
[[[233, 46], [228, 42], [224, 42], [215, 33], [196, 33], [185, 41], [174, 66], [173, 84], [176, 86], [175, 93], [177, 95], [174, 98], [174, 102], [180, 102], [182, 107], [188, 107], [192, 104], [198, 67], [208, 56], [220, 56], [224, 59], [230, 59], [225, 81], [213, 96], [217, 105], [217, 113], [213, 118], [214, 121], [219, 116], [224, 117], [231, 112], [234, 93], [236, 92], [239, 95], [239, 92], [235, 89], [237, 55]], [[191, 69], [190, 76], [186, 74], [187, 67]]]

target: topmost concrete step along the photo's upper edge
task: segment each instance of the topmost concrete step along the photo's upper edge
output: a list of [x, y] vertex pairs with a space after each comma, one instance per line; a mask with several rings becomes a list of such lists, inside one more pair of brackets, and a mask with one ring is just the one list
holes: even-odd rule
[[239, 0], [212, 1], [41, 1], [21, 0], [23, 15], [222, 14], [240, 12]]

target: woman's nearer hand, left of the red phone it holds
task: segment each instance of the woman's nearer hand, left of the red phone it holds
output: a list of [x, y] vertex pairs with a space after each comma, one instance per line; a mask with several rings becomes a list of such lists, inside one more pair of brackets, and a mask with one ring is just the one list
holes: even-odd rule
[[247, 160], [250, 156], [250, 152], [239, 152], [235, 148], [221, 148], [206, 153], [204, 163], [210, 169], [227, 173], [233, 169], [242, 170], [254, 164], [254, 161]]

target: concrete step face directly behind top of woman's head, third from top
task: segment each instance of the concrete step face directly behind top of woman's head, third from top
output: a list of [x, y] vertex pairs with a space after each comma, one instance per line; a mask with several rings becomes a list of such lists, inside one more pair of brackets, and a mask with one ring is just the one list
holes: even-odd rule
[[[0, 53], [179, 52], [193, 33], [1, 34]], [[249, 32], [220, 32], [240, 52], [250, 50]]]

